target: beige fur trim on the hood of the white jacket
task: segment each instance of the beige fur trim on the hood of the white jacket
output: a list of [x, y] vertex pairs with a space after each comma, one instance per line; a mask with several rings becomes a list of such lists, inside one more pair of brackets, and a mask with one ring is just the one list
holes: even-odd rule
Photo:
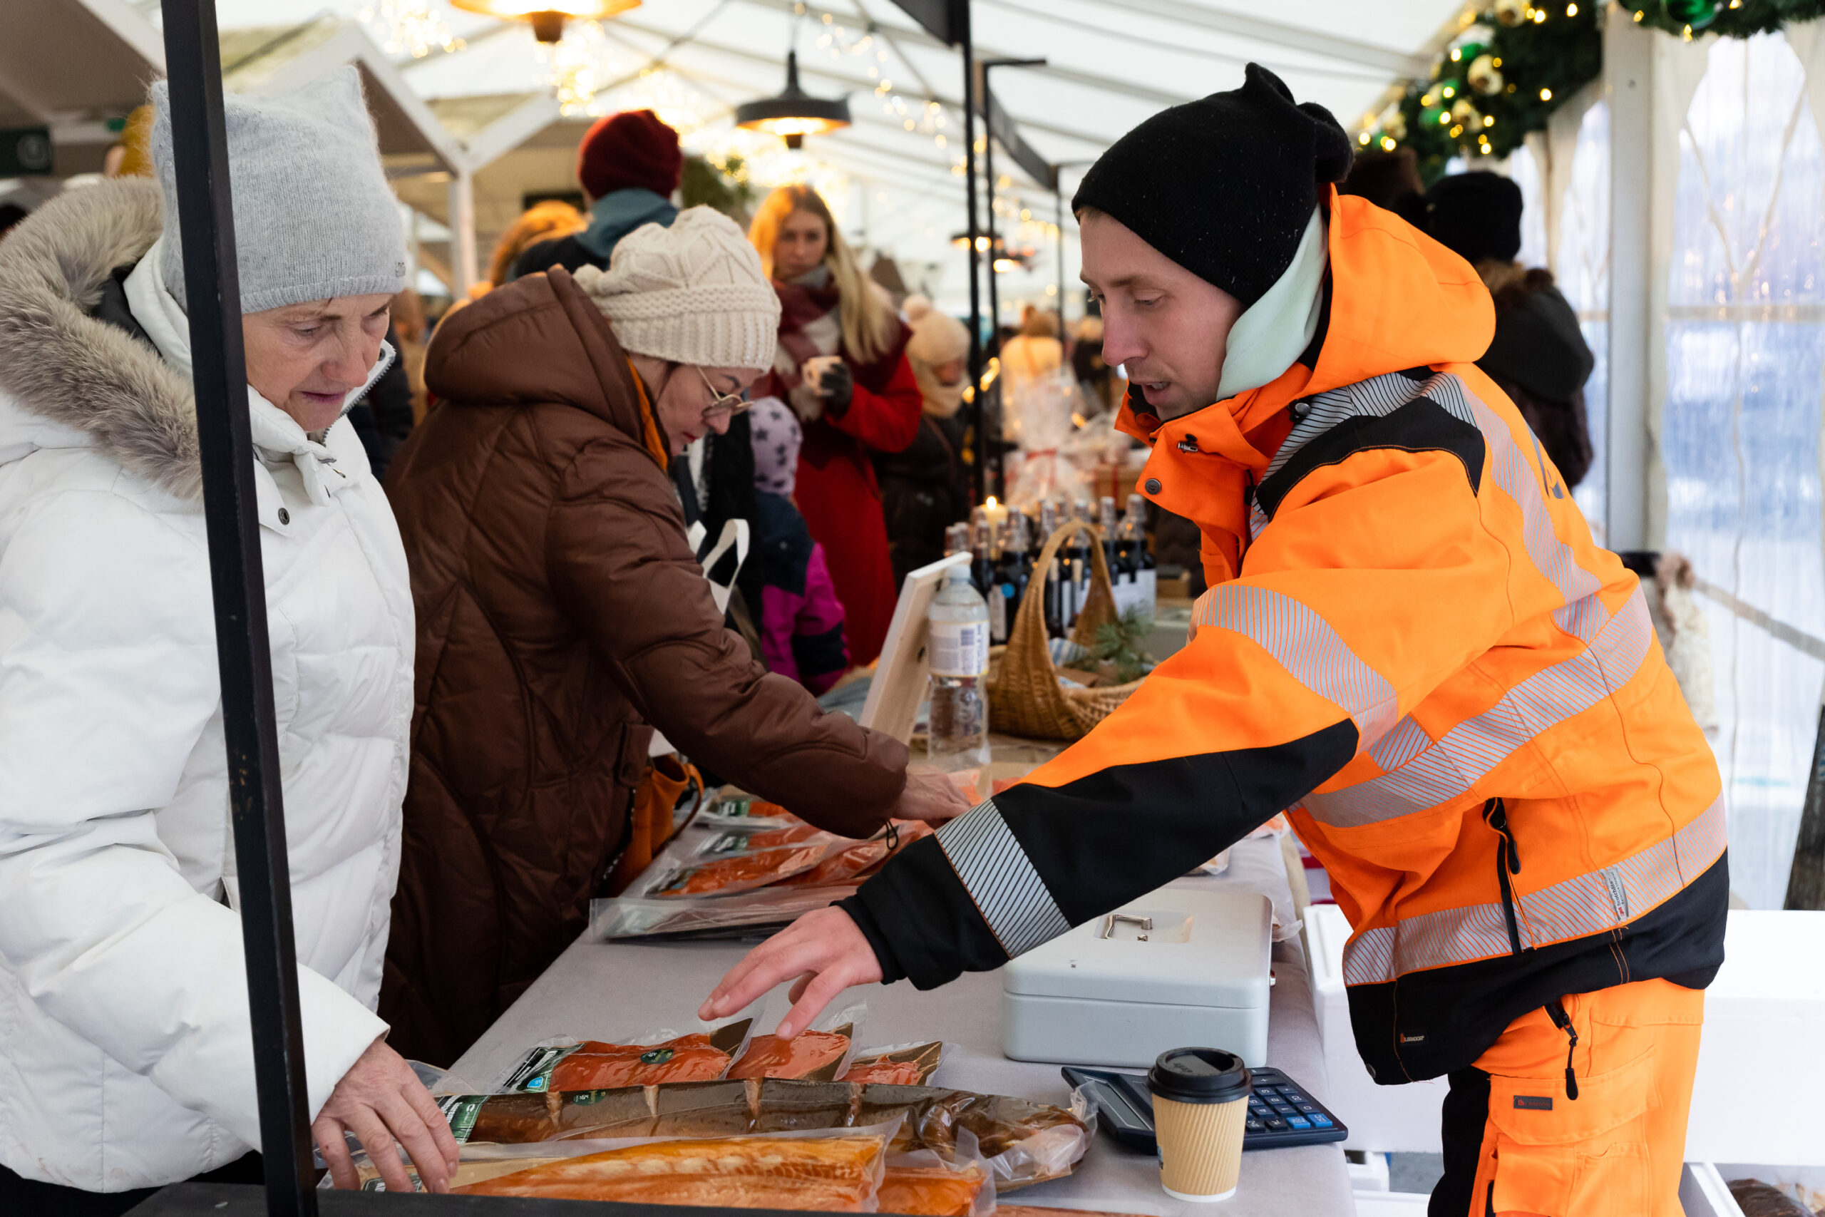
[[162, 232], [150, 179], [51, 199], [0, 241], [0, 392], [179, 498], [201, 500], [190, 380], [151, 347], [89, 316], [117, 266]]

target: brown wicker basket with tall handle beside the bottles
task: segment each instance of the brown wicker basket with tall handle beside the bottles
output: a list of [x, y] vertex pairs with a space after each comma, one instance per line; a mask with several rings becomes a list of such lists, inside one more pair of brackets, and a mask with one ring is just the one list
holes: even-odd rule
[[1015, 628], [1007, 631], [1007, 646], [989, 657], [989, 723], [1006, 735], [1029, 739], [1082, 739], [1090, 728], [1110, 717], [1128, 695], [1141, 688], [1139, 681], [1111, 688], [1066, 688], [1051, 666], [1046, 650], [1046, 577], [1051, 560], [1064, 542], [1077, 533], [1091, 538], [1090, 598], [1077, 615], [1073, 640], [1090, 646], [1097, 629], [1115, 620], [1115, 591], [1110, 586], [1110, 564], [1102, 555], [1100, 533], [1075, 520], [1046, 538], [1033, 578], [1020, 598]]

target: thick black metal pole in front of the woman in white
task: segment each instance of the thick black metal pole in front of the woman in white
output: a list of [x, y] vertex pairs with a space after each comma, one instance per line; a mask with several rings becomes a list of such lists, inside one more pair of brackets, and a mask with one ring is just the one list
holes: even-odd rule
[[177, 221], [190, 297], [203, 516], [215, 593], [228, 814], [239, 869], [266, 1212], [272, 1217], [314, 1217], [305, 1036], [297, 1009], [292, 883], [266, 642], [266, 575], [254, 498], [241, 277], [235, 268], [214, 0], [164, 0], [164, 64], [172, 89]]

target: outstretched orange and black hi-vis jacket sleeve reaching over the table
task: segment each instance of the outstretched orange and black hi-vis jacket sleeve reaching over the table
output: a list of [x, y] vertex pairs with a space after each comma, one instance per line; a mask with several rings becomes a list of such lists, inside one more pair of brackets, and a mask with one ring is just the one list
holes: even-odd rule
[[1186, 648], [1027, 783], [845, 901], [887, 976], [931, 987], [998, 967], [1323, 783], [1380, 772], [1367, 752], [1414, 704], [1528, 633], [1517, 622], [1551, 622], [1568, 593], [1533, 542], [1584, 525], [1546, 511], [1542, 467], [1476, 405], [1487, 418], [1462, 392], [1422, 396], [1392, 421], [1400, 411], [1319, 420], [1283, 449], [1243, 575], [1197, 602]]

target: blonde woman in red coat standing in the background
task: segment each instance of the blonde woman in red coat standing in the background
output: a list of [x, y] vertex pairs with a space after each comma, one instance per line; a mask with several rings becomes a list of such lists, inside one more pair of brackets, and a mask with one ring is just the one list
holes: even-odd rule
[[748, 239], [781, 305], [779, 350], [754, 394], [788, 401], [805, 427], [798, 507], [830, 556], [850, 659], [871, 664], [898, 589], [869, 456], [898, 452], [918, 434], [922, 398], [905, 358], [909, 330], [861, 274], [810, 186], [772, 192]]

